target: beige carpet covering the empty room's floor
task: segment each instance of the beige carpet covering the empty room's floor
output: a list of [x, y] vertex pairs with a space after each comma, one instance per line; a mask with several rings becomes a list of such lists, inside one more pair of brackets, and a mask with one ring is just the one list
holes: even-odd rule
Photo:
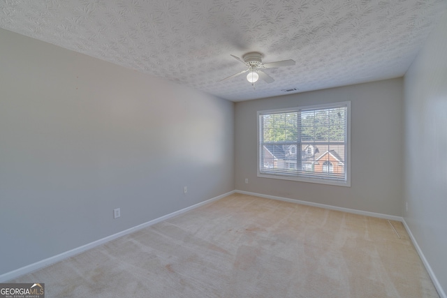
[[47, 298], [439, 297], [402, 223], [240, 194], [13, 282]]

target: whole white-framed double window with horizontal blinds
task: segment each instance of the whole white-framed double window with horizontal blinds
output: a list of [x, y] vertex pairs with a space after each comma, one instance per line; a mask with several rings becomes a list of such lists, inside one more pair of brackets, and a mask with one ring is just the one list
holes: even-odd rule
[[258, 112], [258, 177], [351, 186], [351, 103]]

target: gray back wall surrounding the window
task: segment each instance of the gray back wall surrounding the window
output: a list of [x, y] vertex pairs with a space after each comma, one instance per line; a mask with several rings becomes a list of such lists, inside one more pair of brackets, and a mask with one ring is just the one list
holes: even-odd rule
[[[351, 100], [351, 187], [256, 174], [256, 112]], [[235, 185], [240, 191], [402, 216], [402, 78], [235, 105]], [[249, 184], [244, 184], [244, 179]]]

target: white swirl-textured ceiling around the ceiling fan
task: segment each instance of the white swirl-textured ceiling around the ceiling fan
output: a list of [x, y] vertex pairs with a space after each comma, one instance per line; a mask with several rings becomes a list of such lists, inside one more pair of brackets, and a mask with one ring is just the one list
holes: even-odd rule
[[[446, 0], [3, 0], [0, 27], [233, 101], [400, 77]], [[274, 82], [230, 54], [258, 51]]]

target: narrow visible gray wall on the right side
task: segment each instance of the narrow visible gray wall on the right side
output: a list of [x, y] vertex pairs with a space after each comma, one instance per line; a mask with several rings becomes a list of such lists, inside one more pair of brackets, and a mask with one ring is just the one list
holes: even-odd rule
[[[404, 76], [404, 219], [447, 290], [447, 14]], [[403, 209], [406, 209], [403, 204]]]

